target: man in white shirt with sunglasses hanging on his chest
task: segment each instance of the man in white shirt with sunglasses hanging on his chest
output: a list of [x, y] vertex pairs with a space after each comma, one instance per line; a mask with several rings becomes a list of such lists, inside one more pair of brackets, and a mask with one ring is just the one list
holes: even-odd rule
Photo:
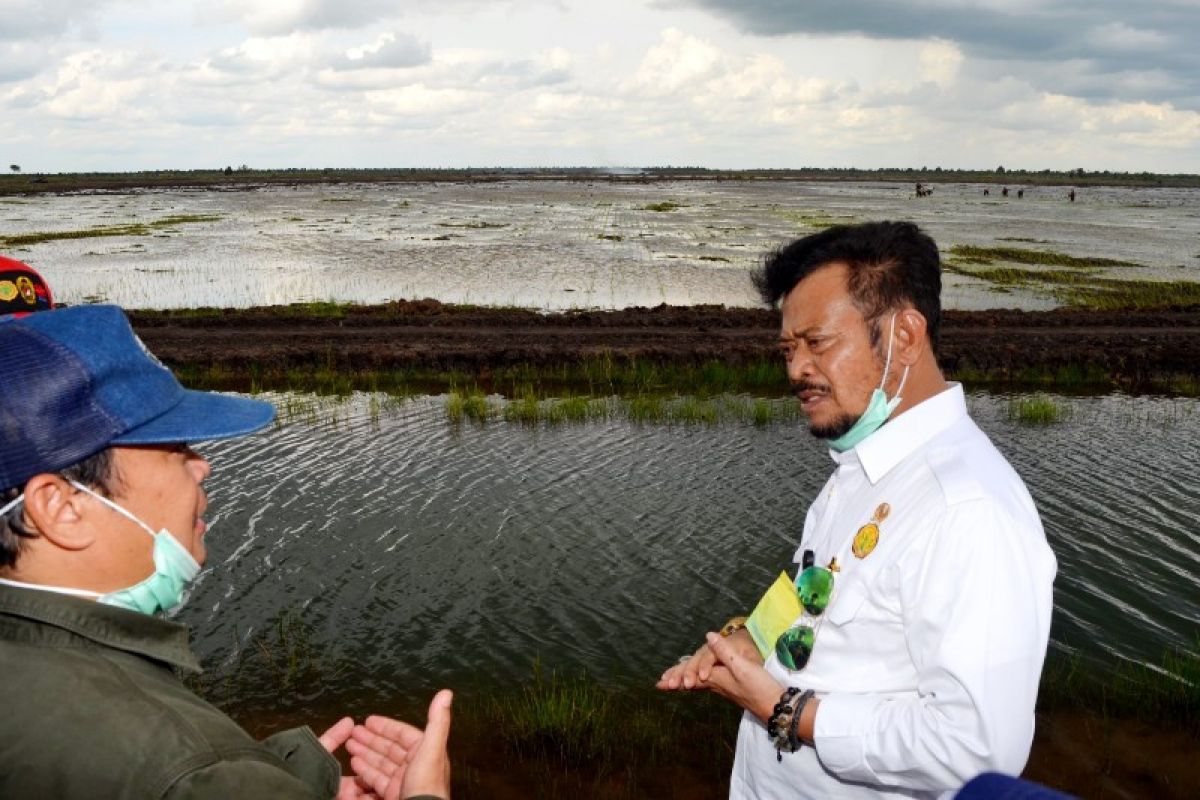
[[709, 633], [659, 687], [745, 709], [731, 798], [938, 796], [1019, 774], [1056, 565], [937, 366], [937, 246], [912, 223], [839, 225], [774, 253], [756, 285], [835, 464], [796, 552], [803, 614], [766, 646], [736, 622]]

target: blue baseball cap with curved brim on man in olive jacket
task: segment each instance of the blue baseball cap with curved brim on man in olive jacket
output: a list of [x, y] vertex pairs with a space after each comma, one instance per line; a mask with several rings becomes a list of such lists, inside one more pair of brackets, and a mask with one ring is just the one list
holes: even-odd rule
[[184, 389], [116, 306], [0, 325], [0, 489], [109, 445], [228, 439], [274, 416], [263, 401]]

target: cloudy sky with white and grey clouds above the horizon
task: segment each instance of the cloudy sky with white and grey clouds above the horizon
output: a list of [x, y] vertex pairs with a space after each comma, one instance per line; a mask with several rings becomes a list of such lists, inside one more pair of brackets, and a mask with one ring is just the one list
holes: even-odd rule
[[0, 158], [1200, 173], [1200, 0], [0, 0]]

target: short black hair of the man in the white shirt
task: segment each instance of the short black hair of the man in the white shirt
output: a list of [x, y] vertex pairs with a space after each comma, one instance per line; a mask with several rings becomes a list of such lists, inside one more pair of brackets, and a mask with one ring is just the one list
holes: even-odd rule
[[904, 303], [925, 318], [929, 341], [937, 351], [942, 321], [942, 263], [937, 245], [911, 222], [866, 222], [834, 225], [797, 239], [769, 255], [754, 284], [763, 302], [778, 307], [784, 295], [821, 267], [841, 263], [850, 270], [847, 289], [854, 306], [871, 324]]

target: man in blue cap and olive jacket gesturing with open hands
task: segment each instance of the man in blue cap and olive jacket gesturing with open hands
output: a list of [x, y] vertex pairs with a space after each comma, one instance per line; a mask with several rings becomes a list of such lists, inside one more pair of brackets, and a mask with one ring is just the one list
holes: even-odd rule
[[156, 614], [204, 561], [211, 471], [187, 443], [257, 431], [269, 403], [185, 390], [113, 306], [0, 325], [0, 796], [449, 795], [449, 692], [424, 732], [259, 742], [175, 674], [199, 664]]

